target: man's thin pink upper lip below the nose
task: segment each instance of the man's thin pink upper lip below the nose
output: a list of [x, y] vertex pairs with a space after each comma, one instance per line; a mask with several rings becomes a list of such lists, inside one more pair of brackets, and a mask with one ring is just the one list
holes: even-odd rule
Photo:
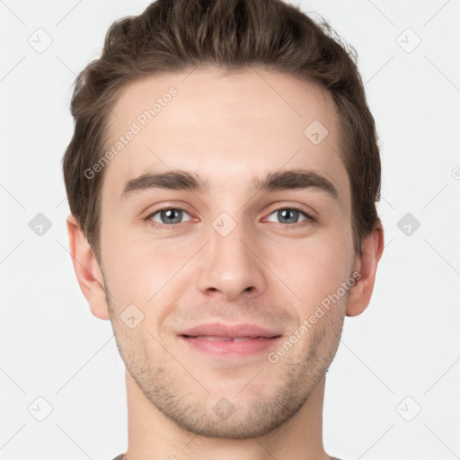
[[257, 324], [223, 324], [208, 323], [199, 324], [198, 326], [181, 331], [179, 335], [191, 337], [210, 336], [210, 337], [279, 337], [279, 332], [270, 331]]

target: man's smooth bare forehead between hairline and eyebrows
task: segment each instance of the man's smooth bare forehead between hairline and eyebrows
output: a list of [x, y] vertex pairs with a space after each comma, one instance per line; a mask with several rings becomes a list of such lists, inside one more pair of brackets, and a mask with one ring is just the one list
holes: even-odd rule
[[115, 155], [102, 190], [120, 195], [129, 180], [170, 169], [232, 188], [255, 175], [307, 168], [348, 195], [337, 121], [322, 88], [260, 68], [146, 77], [128, 84], [113, 105], [106, 146]]

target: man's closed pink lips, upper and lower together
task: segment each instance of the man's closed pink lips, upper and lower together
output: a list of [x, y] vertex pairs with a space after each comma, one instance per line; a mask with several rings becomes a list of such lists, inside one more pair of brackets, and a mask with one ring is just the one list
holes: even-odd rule
[[190, 348], [219, 358], [242, 358], [273, 347], [279, 332], [255, 324], [202, 324], [181, 332], [179, 338]]

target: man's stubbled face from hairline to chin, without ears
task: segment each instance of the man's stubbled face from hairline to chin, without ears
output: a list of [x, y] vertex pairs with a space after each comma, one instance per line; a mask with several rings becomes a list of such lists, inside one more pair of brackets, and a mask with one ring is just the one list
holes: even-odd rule
[[147, 78], [113, 107], [111, 323], [146, 399], [191, 432], [266, 433], [331, 364], [357, 261], [336, 122], [327, 93], [261, 69]]

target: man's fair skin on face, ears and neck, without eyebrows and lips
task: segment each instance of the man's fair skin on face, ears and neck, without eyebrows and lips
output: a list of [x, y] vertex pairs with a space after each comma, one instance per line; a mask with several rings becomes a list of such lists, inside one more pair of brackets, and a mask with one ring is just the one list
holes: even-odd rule
[[[314, 84], [254, 68], [148, 77], [119, 94], [108, 145], [171, 86], [178, 95], [105, 166], [101, 266], [75, 217], [67, 219], [80, 287], [93, 314], [111, 320], [127, 367], [127, 458], [329, 459], [325, 374], [345, 315], [362, 313], [370, 301], [384, 247], [378, 223], [361, 255], [353, 252], [332, 99]], [[319, 145], [304, 135], [314, 120], [329, 131]], [[209, 190], [121, 198], [129, 180], [171, 169], [198, 174]], [[290, 169], [321, 173], [338, 199], [313, 188], [252, 189], [253, 176]], [[146, 219], [167, 207], [186, 211], [181, 224], [160, 213]], [[289, 228], [277, 213], [287, 208], [315, 220], [299, 214]], [[236, 225], [226, 236], [212, 226], [222, 212]], [[153, 226], [161, 223], [168, 227]], [[288, 338], [353, 271], [361, 278], [276, 363], [268, 351], [213, 358], [177, 336], [218, 320], [260, 324]], [[144, 314], [133, 329], [120, 317], [128, 305]], [[213, 410], [224, 397], [234, 407], [226, 420]]]

